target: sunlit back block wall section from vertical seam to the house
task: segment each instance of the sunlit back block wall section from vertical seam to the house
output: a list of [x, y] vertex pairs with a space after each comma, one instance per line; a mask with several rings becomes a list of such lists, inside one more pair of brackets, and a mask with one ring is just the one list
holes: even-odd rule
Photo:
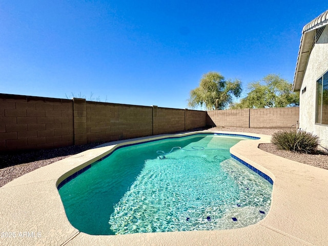
[[299, 120], [299, 107], [251, 109], [250, 128], [288, 128]]

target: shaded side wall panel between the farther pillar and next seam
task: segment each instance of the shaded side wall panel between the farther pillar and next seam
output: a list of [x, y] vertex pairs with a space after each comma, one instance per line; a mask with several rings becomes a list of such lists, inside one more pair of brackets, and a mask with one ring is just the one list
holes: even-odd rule
[[185, 110], [153, 106], [153, 135], [185, 130]]

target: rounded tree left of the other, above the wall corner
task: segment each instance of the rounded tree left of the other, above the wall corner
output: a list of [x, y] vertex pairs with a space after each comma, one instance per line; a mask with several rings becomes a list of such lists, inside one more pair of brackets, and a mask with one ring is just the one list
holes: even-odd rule
[[233, 96], [239, 97], [240, 94], [239, 80], [225, 80], [221, 74], [209, 72], [202, 76], [199, 87], [190, 91], [188, 106], [196, 108], [205, 105], [208, 110], [214, 110], [217, 101], [217, 108], [225, 109], [232, 103]]

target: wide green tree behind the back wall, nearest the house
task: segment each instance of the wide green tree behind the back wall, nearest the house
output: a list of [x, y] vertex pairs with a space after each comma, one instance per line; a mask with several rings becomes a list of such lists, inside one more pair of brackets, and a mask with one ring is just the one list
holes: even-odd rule
[[248, 86], [249, 93], [230, 109], [281, 108], [299, 106], [299, 94], [292, 84], [277, 74], [269, 74]]

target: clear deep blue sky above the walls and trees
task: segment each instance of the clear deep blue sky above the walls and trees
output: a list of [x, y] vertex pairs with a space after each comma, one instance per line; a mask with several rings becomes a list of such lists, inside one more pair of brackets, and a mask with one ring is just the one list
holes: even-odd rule
[[0, 1], [0, 93], [187, 108], [216, 71], [292, 83], [325, 1]]

